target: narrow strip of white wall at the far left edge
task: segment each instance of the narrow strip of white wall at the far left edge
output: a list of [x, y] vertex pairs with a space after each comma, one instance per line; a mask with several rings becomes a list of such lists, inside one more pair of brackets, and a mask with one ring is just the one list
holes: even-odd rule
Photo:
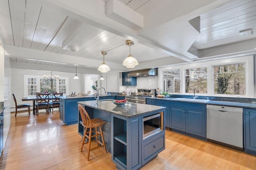
[[4, 145], [11, 125], [11, 61], [10, 58], [4, 59]]

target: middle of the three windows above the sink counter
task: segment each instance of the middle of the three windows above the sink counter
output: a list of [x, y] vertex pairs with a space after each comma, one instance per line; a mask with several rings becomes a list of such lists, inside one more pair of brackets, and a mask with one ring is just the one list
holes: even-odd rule
[[185, 92], [207, 93], [207, 67], [185, 69]]

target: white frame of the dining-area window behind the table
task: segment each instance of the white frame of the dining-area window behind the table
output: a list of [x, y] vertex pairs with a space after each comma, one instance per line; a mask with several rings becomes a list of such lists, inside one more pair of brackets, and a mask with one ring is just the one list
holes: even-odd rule
[[[37, 82], [37, 92], [40, 92], [40, 78], [43, 78], [42, 76], [38, 75], [24, 75], [24, 97], [34, 97], [36, 95], [28, 95], [28, 78], [36, 78]], [[68, 95], [68, 77], [60, 77], [60, 79], [65, 79], [66, 80], [66, 94], [63, 95]], [[56, 82], [56, 90], [59, 92], [59, 83]]]

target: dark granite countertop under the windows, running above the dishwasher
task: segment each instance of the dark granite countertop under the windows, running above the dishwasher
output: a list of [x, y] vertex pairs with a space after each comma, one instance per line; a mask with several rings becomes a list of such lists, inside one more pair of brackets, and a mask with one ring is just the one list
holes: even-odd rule
[[208, 102], [202, 103], [202, 102], [196, 102], [196, 101], [175, 101], [175, 100], [172, 100], [172, 99], [175, 99], [175, 98], [158, 98], [158, 97], [152, 97], [152, 98], [147, 98], [147, 99], [169, 100], [169, 101], [174, 101], [174, 102], [188, 102], [188, 103], [212, 104], [212, 105], [232, 106], [232, 107], [244, 107], [244, 108], [256, 109], [256, 103], [248, 103], [248, 102], [227, 102], [227, 101], [210, 100], [210, 101], [208, 101]]

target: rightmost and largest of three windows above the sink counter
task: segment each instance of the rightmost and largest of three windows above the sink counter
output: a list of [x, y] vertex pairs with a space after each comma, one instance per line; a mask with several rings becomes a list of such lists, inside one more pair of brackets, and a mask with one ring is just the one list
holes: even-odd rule
[[246, 94], [246, 63], [213, 66], [214, 94]]

